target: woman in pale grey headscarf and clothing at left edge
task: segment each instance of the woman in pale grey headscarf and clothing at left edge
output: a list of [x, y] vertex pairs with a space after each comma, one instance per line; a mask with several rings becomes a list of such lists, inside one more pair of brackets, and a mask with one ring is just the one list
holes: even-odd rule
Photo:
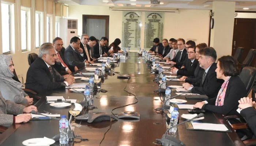
[[22, 88], [20, 82], [12, 79], [14, 77], [14, 64], [11, 55], [0, 55], [0, 91], [6, 100], [17, 104], [31, 105], [33, 98], [30, 98]]

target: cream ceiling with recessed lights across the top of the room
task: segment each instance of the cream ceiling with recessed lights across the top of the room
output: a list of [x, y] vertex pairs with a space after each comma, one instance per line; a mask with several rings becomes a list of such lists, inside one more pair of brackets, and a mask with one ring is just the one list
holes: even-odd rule
[[[140, 7], [165, 9], [212, 9], [212, 1], [235, 1], [236, 11], [256, 11], [256, 0], [159, 0], [163, 4], [150, 4], [150, 0], [56, 0], [68, 5], [100, 5], [111, 7]], [[134, 3], [136, 5], [131, 5]], [[243, 8], [249, 8], [244, 10]]]

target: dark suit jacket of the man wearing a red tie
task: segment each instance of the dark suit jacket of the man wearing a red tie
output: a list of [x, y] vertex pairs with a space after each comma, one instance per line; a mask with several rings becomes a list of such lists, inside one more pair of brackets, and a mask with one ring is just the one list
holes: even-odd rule
[[[63, 62], [68, 66], [68, 69], [71, 70], [71, 72], [75, 72], [75, 66], [73, 65], [69, 65], [67, 63], [67, 61], [65, 60], [63, 51], [59, 51], [60, 57], [63, 60]], [[60, 63], [60, 62], [55, 62], [55, 64], [53, 65], [53, 67], [57, 70], [57, 72], [59, 72], [62, 76], [65, 74], [68, 74], [66, 72], [66, 68]]]

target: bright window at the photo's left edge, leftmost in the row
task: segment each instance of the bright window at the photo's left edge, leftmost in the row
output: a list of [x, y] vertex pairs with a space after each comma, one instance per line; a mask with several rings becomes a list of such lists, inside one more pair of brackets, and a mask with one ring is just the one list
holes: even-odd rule
[[11, 9], [12, 5], [1, 3], [3, 53], [11, 53]]

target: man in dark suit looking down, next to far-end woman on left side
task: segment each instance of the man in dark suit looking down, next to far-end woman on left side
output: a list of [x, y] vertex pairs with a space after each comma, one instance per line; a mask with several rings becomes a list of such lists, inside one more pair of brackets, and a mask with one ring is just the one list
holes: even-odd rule
[[108, 57], [113, 55], [114, 51], [110, 50], [107, 45], [108, 41], [108, 38], [102, 37], [101, 40], [96, 43], [96, 45], [93, 47], [95, 58]]

